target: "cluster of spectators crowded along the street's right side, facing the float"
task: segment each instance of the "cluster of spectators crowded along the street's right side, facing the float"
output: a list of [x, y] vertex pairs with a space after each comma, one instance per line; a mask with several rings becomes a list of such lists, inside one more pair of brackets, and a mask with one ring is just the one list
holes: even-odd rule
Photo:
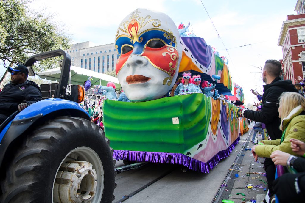
[[[253, 126], [252, 153], [265, 157], [264, 169], [268, 193], [264, 202], [304, 202], [305, 197], [305, 98], [300, 83], [280, 77], [282, 64], [267, 60], [262, 70], [264, 93], [257, 95], [257, 110], [239, 109], [238, 117], [246, 117], [257, 123]], [[298, 77], [300, 82], [304, 79]], [[263, 128], [266, 131], [263, 131]], [[260, 142], [254, 142], [257, 132]], [[302, 157], [303, 156], [303, 157]], [[282, 168], [286, 167], [287, 168]], [[284, 170], [282, 170], [284, 169]], [[286, 173], [282, 174], [282, 171]]]

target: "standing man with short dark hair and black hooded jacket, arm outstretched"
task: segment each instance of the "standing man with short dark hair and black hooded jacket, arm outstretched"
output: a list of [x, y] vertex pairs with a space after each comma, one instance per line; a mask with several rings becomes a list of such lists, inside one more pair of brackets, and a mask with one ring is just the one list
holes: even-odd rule
[[[238, 117], [246, 117], [250, 120], [261, 122], [266, 125], [270, 138], [281, 139], [282, 131], [279, 129], [281, 119], [278, 117], [278, 98], [283, 92], [298, 92], [291, 80], [280, 78], [282, 64], [277, 60], [267, 60], [263, 68], [262, 76], [264, 94], [262, 96], [262, 109], [260, 111], [239, 109]], [[266, 158], [264, 162], [266, 178], [268, 181], [269, 197], [274, 195], [272, 183], [275, 175], [275, 166], [271, 158]]]

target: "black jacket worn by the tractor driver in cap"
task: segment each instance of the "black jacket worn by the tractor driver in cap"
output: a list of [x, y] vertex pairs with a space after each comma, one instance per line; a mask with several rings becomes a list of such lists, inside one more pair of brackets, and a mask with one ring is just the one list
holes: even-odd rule
[[0, 114], [11, 115], [18, 110], [20, 103], [32, 104], [42, 100], [38, 85], [33, 81], [14, 85], [6, 84], [0, 92]]

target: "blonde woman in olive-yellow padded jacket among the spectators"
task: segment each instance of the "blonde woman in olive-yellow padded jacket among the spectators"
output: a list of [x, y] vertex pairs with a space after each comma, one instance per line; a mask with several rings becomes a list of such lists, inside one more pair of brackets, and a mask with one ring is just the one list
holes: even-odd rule
[[[282, 138], [276, 140], [261, 140], [258, 145], [254, 145], [252, 153], [255, 161], [257, 161], [258, 156], [270, 157], [271, 153], [276, 150], [298, 156], [292, 151], [289, 140], [294, 138], [305, 142], [305, 98], [299, 93], [284, 92], [279, 98], [278, 105], [278, 117], [281, 118], [279, 128], [283, 132]], [[269, 187], [269, 197], [271, 197], [274, 195], [272, 188], [275, 176], [274, 164], [265, 166], [265, 170]], [[273, 199], [271, 197], [271, 200]]]

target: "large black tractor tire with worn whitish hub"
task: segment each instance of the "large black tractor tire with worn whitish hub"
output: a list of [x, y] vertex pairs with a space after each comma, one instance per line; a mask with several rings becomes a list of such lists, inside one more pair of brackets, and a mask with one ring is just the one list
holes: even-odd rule
[[97, 125], [56, 117], [28, 131], [1, 177], [0, 202], [111, 202], [113, 149]]

